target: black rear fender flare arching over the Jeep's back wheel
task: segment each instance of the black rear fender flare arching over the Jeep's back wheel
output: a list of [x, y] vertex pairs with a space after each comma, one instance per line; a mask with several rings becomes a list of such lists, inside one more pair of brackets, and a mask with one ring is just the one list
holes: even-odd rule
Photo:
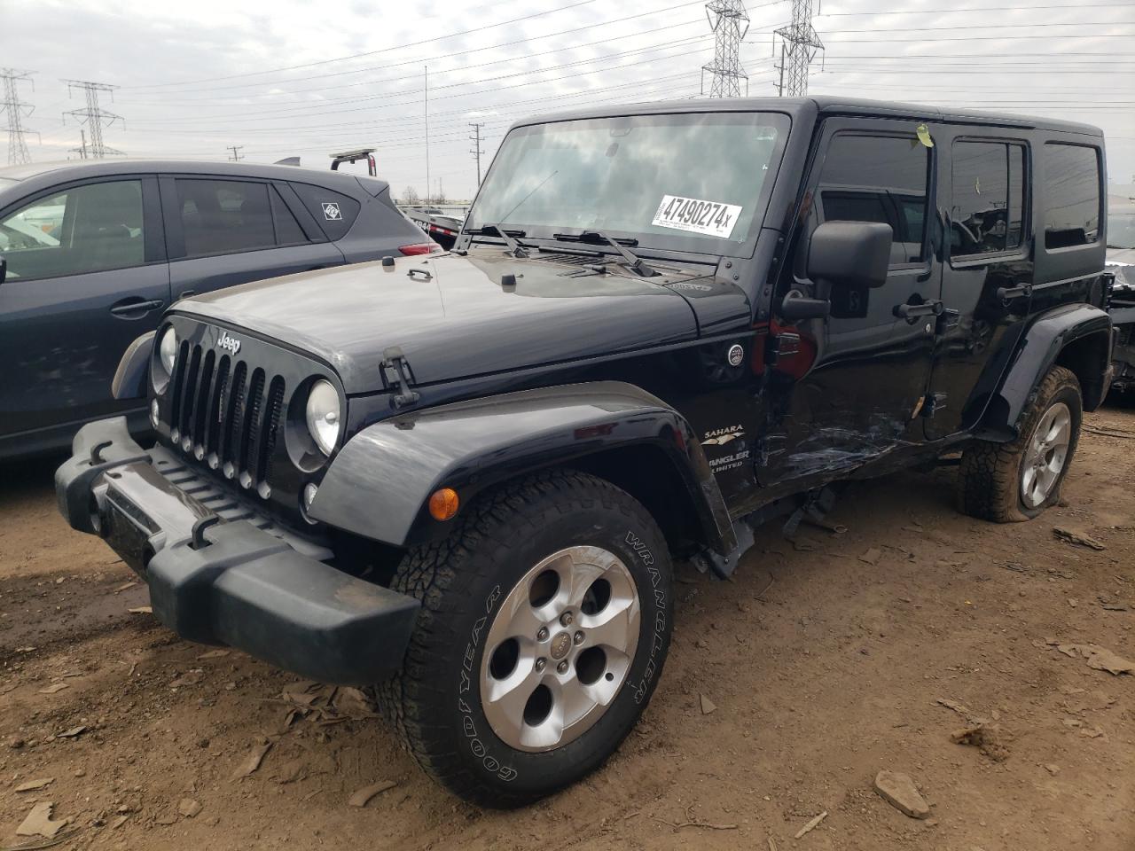
[[[1070, 344], [1092, 335], [1103, 336], [1102, 378], [1111, 351], [1111, 319], [1107, 312], [1091, 304], [1065, 304], [1033, 322], [1017, 344], [1016, 356], [986, 408], [977, 436], [1000, 440], [1015, 438], [1025, 405], [1045, 373], [1057, 363], [1060, 353]], [[1092, 410], [1094, 405], [1091, 401], [1086, 402]]]

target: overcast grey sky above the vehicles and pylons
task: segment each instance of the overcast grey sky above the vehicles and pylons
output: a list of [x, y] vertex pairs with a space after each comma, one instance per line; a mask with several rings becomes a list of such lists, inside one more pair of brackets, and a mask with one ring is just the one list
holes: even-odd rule
[[[1113, 183], [1135, 183], [1135, 0], [827, 0], [826, 45], [810, 93], [981, 107], [1087, 121], [1108, 137]], [[747, 2], [749, 92], [775, 94], [772, 31], [790, 3]], [[396, 194], [426, 194], [426, 66], [432, 191], [476, 187], [469, 124], [484, 123], [482, 168], [508, 124], [532, 112], [699, 93], [713, 56], [703, 0], [0, 0], [6, 66], [35, 106], [35, 161], [64, 159], [84, 106], [62, 78], [120, 86], [103, 130], [129, 155], [250, 161], [378, 148]], [[707, 83], [708, 87], [708, 83]], [[0, 119], [2, 121], [3, 119]], [[0, 165], [7, 136], [0, 134]]]

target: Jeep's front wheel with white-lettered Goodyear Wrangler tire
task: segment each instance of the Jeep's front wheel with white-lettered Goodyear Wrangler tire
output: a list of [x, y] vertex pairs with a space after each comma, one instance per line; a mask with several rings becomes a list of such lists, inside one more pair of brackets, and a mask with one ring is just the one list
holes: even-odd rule
[[642, 713], [670, 647], [670, 556], [638, 502], [582, 473], [470, 508], [398, 567], [422, 608], [379, 702], [428, 774], [519, 807], [598, 768]]

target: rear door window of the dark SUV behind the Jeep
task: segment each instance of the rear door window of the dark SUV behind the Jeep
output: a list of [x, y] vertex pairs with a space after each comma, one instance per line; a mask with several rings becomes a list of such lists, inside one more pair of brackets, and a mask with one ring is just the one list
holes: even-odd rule
[[178, 178], [176, 185], [186, 256], [276, 245], [267, 184]]

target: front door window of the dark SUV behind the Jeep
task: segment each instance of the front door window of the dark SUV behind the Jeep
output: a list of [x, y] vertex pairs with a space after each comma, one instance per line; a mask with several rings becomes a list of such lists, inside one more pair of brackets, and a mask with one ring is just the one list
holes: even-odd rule
[[141, 180], [75, 186], [0, 221], [8, 277], [56, 278], [145, 262]]

